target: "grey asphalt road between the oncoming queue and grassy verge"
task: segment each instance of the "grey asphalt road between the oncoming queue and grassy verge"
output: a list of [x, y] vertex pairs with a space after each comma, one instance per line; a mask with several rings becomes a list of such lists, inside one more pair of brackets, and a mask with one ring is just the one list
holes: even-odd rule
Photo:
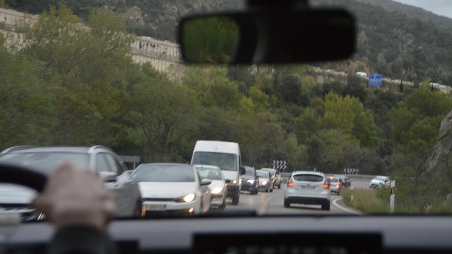
[[[368, 181], [352, 182], [354, 188], [367, 188]], [[274, 189], [273, 192], [259, 192], [257, 195], [250, 195], [248, 192], [240, 193], [240, 202], [237, 206], [227, 203], [226, 210], [248, 210], [257, 211], [258, 214], [359, 214], [359, 211], [353, 210], [342, 202], [342, 197], [331, 194], [331, 206], [329, 211], [321, 210], [319, 205], [296, 205], [292, 204], [290, 208], [285, 208], [284, 188]]]

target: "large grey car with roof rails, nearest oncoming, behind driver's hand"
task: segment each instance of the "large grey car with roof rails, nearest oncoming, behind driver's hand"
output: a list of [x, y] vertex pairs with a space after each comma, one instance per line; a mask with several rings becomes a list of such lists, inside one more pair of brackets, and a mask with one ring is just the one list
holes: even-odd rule
[[[64, 161], [92, 168], [115, 194], [117, 217], [141, 217], [142, 200], [138, 184], [125, 171], [116, 153], [104, 146], [18, 146], [0, 153], [0, 162], [36, 169], [50, 174]], [[12, 194], [14, 193], [14, 194]], [[23, 220], [42, 219], [30, 208], [35, 192], [21, 186], [0, 184], [0, 213], [15, 210]]]

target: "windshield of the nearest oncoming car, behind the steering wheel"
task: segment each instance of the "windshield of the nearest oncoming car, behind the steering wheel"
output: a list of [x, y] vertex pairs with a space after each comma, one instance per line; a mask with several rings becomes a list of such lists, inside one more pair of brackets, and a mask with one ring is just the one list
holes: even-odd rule
[[88, 167], [86, 153], [70, 152], [13, 152], [0, 157], [0, 162], [25, 166], [45, 174], [51, 173], [62, 162], [69, 161], [79, 167]]

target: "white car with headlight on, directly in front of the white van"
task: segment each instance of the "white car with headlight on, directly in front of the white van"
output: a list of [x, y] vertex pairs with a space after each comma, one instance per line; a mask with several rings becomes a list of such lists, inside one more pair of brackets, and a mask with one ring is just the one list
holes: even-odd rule
[[223, 172], [217, 166], [196, 165], [201, 180], [206, 179], [212, 183], [209, 185], [212, 193], [211, 205], [216, 208], [224, 209], [226, 207], [226, 197], [228, 196], [227, 181], [224, 179]]

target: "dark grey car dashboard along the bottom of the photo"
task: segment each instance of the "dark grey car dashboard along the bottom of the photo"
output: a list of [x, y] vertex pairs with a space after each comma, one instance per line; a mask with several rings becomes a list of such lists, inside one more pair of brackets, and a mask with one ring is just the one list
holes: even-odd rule
[[[266, 216], [118, 220], [121, 253], [451, 253], [442, 216]], [[46, 222], [0, 226], [0, 253], [43, 253]]]

